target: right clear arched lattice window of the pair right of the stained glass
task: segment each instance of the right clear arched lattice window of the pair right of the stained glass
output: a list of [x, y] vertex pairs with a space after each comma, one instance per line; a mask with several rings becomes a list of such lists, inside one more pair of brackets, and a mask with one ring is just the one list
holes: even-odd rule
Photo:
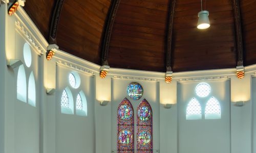
[[211, 97], [206, 103], [205, 119], [221, 119], [221, 106], [215, 97]]

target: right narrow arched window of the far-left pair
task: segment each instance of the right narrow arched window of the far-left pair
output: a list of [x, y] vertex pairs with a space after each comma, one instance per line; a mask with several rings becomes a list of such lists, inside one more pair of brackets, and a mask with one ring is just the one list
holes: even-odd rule
[[35, 78], [33, 72], [30, 73], [29, 76], [29, 86], [28, 86], [28, 101], [29, 105], [36, 106], [36, 91], [35, 91]]

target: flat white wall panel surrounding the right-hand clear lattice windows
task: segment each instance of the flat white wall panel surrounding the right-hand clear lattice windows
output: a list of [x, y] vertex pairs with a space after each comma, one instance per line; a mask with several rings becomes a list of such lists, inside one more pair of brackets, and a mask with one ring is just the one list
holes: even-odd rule
[[[178, 84], [178, 152], [230, 152], [230, 82], [207, 82], [211, 92], [206, 97], [196, 95], [200, 82]], [[205, 105], [211, 96], [219, 100], [221, 119], [205, 119]], [[195, 97], [202, 108], [202, 119], [186, 120], [186, 108]]]

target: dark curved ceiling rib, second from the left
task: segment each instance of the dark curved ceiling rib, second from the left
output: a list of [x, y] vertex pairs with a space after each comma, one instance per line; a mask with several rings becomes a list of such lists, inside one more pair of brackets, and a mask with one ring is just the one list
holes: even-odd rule
[[103, 43], [102, 43], [102, 47], [101, 47], [102, 48], [102, 50], [101, 50], [101, 64], [102, 65], [109, 65], [108, 56], [109, 56], [110, 38], [111, 38], [111, 32], [113, 29], [116, 12], [117, 12], [119, 4], [120, 4], [120, 0], [112, 0], [111, 8], [109, 10], [108, 17], [106, 18], [104, 39], [103, 39]]

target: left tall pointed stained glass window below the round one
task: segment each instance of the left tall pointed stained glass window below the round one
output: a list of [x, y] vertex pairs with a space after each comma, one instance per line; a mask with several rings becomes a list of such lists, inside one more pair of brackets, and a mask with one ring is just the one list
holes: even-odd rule
[[134, 112], [133, 106], [124, 98], [117, 110], [117, 152], [134, 152]]

